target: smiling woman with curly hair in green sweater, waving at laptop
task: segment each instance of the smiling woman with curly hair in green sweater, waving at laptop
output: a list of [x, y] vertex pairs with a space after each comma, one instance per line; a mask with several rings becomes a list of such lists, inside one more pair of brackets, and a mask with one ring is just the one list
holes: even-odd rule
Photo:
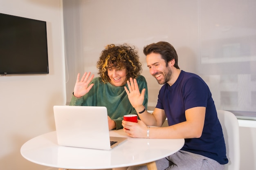
[[[139, 90], [146, 89], [143, 105], [147, 108], [148, 88], [145, 77], [140, 75], [141, 63], [134, 47], [128, 44], [109, 44], [97, 62], [99, 77], [85, 72], [78, 73], [71, 106], [105, 106], [108, 110], [108, 128], [123, 128], [124, 115], [137, 114], [124, 89], [130, 77], [136, 78]], [[93, 114], [93, 113], [92, 113]]]

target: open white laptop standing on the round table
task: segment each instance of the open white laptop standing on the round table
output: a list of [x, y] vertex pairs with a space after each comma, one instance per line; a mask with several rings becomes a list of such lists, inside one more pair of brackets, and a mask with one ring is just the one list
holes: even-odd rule
[[107, 108], [103, 106], [54, 106], [58, 144], [110, 150], [125, 137], [110, 137]]

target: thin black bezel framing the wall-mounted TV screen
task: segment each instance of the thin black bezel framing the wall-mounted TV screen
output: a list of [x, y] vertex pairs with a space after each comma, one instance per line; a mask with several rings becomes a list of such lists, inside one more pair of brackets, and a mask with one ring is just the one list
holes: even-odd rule
[[[13, 17], [13, 18], [20, 18], [22, 20], [30, 20], [30, 21], [35, 21], [35, 22], [42, 22], [44, 24], [44, 30], [45, 30], [45, 50], [46, 50], [46, 55], [45, 55], [45, 59], [47, 60], [47, 62], [45, 62], [45, 64], [47, 65], [47, 69], [45, 71], [0, 71], [0, 75], [45, 75], [45, 74], [49, 74], [49, 57], [48, 57], [48, 42], [47, 42], [47, 22], [46, 21], [42, 21], [42, 20], [35, 20], [35, 19], [31, 19], [31, 18], [25, 18], [25, 17], [20, 17], [20, 16], [16, 16], [16, 15], [9, 15], [9, 14], [5, 14], [5, 13], [0, 13], [0, 15], [6, 15], [7, 17]], [[0, 61], [1, 62], [1, 61]]]

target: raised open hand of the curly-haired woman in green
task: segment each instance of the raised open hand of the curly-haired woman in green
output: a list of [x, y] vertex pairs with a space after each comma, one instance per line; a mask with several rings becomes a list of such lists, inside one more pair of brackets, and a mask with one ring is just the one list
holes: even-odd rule
[[[74, 96], [80, 98], [90, 91], [94, 84], [90, 84], [94, 75], [90, 76], [91, 72], [85, 72], [80, 80], [80, 73], [77, 74], [76, 84], [74, 87]], [[88, 86], [90, 84], [90, 86]]]

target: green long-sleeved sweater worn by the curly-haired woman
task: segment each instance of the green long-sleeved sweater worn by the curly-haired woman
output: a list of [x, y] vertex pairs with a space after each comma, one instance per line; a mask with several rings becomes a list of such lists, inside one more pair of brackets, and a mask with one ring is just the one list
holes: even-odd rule
[[[148, 106], [148, 87], [145, 77], [139, 75], [136, 78], [139, 91], [146, 88], [143, 105]], [[72, 96], [70, 106], [105, 106], [108, 110], [108, 116], [113, 119], [117, 125], [116, 130], [123, 128], [122, 120], [124, 115], [136, 114], [135, 108], [132, 107], [124, 86], [113, 86], [109, 82], [104, 84], [100, 77], [92, 79], [90, 84], [94, 84], [92, 89], [81, 98]], [[127, 84], [125, 85], [127, 88]]]

